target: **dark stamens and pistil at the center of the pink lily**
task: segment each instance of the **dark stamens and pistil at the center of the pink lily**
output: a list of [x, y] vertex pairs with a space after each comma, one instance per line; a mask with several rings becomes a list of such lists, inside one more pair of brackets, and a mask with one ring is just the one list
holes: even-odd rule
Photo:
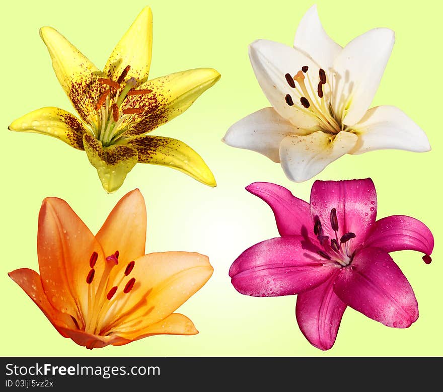
[[325, 249], [323, 251], [317, 251], [317, 253], [327, 260], [331, 260], [340, 264], [342, 267], [347, 267], [352, 262], [353, 254], [349, 251], [348, 242], [355, 238], [355, 234], [347, 232], [338, 239], [338, 219], [337, 211], [335, 208], [331, 210], [330, 220], [331, 227], [334, 230], [335, 238], [332, 238], [329, 242], [329, 237], [323, 233], [322, 223], [320, 219], [316, 217], [314, 224], [314, 234]]

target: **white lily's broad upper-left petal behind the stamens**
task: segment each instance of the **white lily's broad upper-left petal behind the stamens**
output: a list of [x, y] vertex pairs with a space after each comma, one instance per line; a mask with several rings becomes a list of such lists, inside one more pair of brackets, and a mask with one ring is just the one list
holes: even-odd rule
[[[307, 114], [309, 112], [300, 104], [300, 95], [287, 84], [284, 76], [286, 73], [295, 75], [304, 65], [318, 72], [312, 59], [290, 46], [267, 40], [249, 45], [249, 58], [260, 87], [277, 113], [300, 128], [320, 129], [318, 119]], [[293, 106], [287, 105], [286, 94], [292, 97]]]

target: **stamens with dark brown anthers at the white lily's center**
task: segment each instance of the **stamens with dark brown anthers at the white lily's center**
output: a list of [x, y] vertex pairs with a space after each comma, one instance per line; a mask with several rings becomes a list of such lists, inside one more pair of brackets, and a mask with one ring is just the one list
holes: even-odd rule
[[[308, 75], [308, 69], [309, 67], [304, 65], [295, 76], [286, 73], [284, 75], [286, 82], [292, 89], [296, 90], [300, 97], [300, 105], [298, 105], [299, 109], [307, 115], [315, 117], [321, 124], [324, 132], [336, 134], [343, 130], [343, 125], [341, 124], [341, 121], [337, 121], [335, 118], [329, 97], [326, 97], [323, 91], [324, 86], [328, 83], [326, 80], [326, 72], [323, 68], [320, 68], [319, 83], [317, 87], [314, 88], [311, 78]], [[308, 77], [305, 77], [305, 73]], [[305, 79], [308, 80], [308, 86], [305, 83]], [[332, 89], [330, 88], [330, 90]], [[330, 94], [328, 95], [330, 96]], [[290, 94], [286, 94], [284, 99], [287, 105], [294, 105], [294, 101]]]

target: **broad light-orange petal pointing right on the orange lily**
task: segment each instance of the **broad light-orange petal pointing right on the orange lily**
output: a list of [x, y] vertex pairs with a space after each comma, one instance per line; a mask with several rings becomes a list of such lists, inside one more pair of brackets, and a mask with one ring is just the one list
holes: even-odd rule
[[[199, 253], [151, 253], [135, 260], [128, 278], [135, 285], [128, 294], [120, 317], [106, 320], [112, 331], [144, 329], [165, 319], [198, 291], [212, 275], [207, 256]], [[126, 281], [123, 281], [125, 284]], [[124, 296], [128, 297], [124, 297]]]

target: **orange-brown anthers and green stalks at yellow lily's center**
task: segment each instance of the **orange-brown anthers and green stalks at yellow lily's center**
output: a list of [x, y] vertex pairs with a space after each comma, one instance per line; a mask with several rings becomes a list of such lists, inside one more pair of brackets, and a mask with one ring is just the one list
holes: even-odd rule
[[91, 121], [91, 123], [97, 124], [97, 126], [92, 125], [92, 131], [94, 137], [99, 139], [104, 146], [113, 144], [126, 131], [125, 127], [120, 128], [126, 119], [134, 114], [140, 114], [146, 109], [145, 107], [123, 107], [125, 98], [131, 95], [152, 93], [152, 90], [135, 90], [137, 82], [133, 77], [125, 82], [129, 69], [130, 65], [123, 69], [117, 82], [103, 77], [97, 80], [101, 85], [107, 86], [107, 90], [99, 97], [95, 106], [97, 121]]

